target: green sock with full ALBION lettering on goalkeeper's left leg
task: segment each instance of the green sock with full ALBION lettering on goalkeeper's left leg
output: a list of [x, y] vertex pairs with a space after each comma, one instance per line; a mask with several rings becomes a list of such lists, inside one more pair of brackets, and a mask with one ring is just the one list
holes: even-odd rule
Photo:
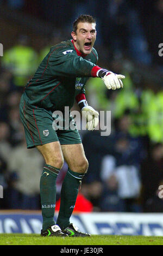
[[45, 164], [40, 178], [40, 197], [43, 218], [42, 230], [55, 225], [56, 180], [59, 170], [60, 169], [54, 166]]

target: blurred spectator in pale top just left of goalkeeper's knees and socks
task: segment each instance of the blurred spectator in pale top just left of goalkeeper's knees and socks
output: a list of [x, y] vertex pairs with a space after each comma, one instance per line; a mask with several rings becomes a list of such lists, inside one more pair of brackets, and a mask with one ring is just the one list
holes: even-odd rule
[[[28, 150], [24, 139], [21, 145], [10, 151], [8, 166], [11, 172], [7, 199], [9, 209], [39, 210], [39, 177], [43, 166], [40, 153], [35, 148]], [[33, 166], [35, 166], [34, 169]]]

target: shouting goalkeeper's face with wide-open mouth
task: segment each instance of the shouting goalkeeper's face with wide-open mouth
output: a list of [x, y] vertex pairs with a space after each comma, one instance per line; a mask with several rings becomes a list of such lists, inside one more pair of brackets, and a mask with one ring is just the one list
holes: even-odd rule
[[76, 48], [84, 53], [90, 54], [96, 40], [96, 23], [79, 22], [77, 32], [72, 32], [72, 38]]

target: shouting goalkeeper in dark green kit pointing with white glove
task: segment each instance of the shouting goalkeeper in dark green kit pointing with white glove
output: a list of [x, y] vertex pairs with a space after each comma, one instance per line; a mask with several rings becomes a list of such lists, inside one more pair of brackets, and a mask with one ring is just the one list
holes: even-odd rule
[[[105, 86], [112, 90], [123, 87], [123, 75], [97, 66], [98, 55], [93, 48], [95, 19], [90, 15], [80, 15], [73, 23], [71, 35], [71, 40], [51, 47], [27, 83], [20, 102], [27, 148], [36, 147], [45, 159], [40, 178], [41, 236], [90, 236], [70, 223], [78, 188], [88, 168], [82, 141], [77, 129], [53, 129], [53, 111], [64, 113], [65, 106], [71, 109], [77, 100], [83, 114], [87, 114], [87, 129], [93, 130], [98, 124], [99, 114], [87, 105], [84, 88], [87, 79], [103, 79]], [[64, 116], [62, 121], [65, 122]], [[73, 121], [70, 115], [69, 121]], [[64, 159], [68, 170], [62, 183], [60, 210], [55, 223], [56, 180]]]

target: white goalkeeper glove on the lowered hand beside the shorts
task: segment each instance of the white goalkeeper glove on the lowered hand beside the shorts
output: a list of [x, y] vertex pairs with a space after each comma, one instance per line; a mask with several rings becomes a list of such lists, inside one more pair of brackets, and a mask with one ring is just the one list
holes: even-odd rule
[[81, 111], [82, 117], [86, 119], [86, 129], [94, 130], [99, 122], [99, 113], [93, 109], [91, 106], [87, 105], [86, 100], [80, 100], [78, 103]]

